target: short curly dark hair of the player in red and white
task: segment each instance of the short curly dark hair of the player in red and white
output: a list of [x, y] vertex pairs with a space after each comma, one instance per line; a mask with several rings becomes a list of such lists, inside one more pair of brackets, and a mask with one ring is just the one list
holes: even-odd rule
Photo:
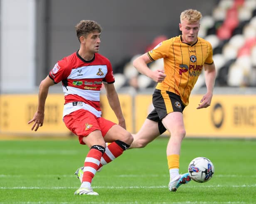
[[101, 26], [91, 20], [81, 20], [78, 24], [76, 24], [76, 36], [80, 42], [80, 37], [87, 37], [89, 33], [98, 32], [101, 33]]

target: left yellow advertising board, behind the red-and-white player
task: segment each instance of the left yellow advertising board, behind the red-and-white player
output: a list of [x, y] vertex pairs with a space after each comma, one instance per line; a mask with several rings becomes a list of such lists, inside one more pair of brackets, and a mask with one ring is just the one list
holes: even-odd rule
[[[126, 128], [133, 130], [132, 96], [119, 96], [123, 115], [126, 119]], [[31, 131], [32, 123], [27, 124], [37, 110], [37, 94], [6, 94], [0, 96], [0, 133], [17, 135], [58, 135], [72, 134], [62, 121], [64, 106], [63, 94], [49, 94], [45, 103], [44, 124], [37, 132]], [[101, 96], [103, 117], [118, 123], [116, 115], [108, 104], [106, 95]]]

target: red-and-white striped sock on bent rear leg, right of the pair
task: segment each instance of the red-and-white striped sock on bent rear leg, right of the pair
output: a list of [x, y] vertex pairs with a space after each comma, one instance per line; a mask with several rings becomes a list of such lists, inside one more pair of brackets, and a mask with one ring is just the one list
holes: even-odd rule
[[107, 163], [113, 161], [115, 158], [123, 154], [123, 151], [125, 151], [129, 147], [130, 145], [120, 140], [116, 140], [115, 142], [109, 144], [106, 147], [105, 153], [101, 157], [101, 163], [98, 166], [98, 168], [101, 168], [101, 166], [106, 165]]

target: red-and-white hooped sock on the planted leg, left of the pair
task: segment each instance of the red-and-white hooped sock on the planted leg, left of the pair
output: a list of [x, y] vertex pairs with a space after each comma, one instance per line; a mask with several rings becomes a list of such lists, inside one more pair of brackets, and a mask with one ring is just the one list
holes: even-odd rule
[[91, 147], [84, 161], [84, 175], [81, 187], [91, 187], [91, 180], [94, 178], [104, 152], [105, 148], [103, 146], [94, 145]]

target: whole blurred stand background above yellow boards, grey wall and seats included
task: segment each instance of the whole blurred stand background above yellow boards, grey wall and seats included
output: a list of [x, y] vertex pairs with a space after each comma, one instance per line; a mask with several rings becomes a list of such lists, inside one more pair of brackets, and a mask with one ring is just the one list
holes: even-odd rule
[[[3, 94], [37, 93], [55, 63], [79, 49], [75, 25], [82, 19], [103, 28], [100, 53], [112, 63], [116, 89], [152, 90], [155, 82], [138, 73], [132, 62], [180, 35], [180, 13], [189, 8], [202, 12], [199, 37], [212, 44], [215, 86], [256, 87], [256, 0], [0, 0], [0, 8]], [[162, 69], [163, 60], [149, 67]], [[203, 72], [194, 90], [204, 87]]]

